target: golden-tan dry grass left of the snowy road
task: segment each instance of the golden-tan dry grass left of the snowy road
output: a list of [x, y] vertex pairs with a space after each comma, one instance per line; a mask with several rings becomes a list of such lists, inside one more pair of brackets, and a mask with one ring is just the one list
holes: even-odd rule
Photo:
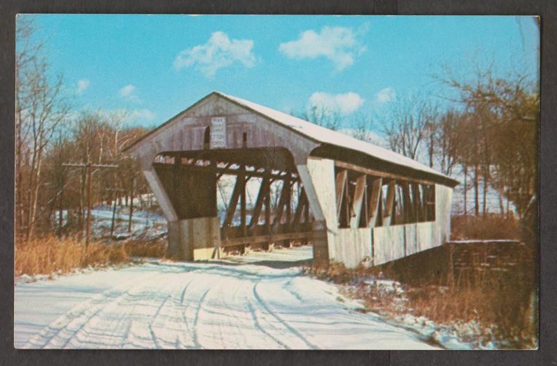
[[109, 266], [130, 262], [120, 244], [91, 242], [86, 249], [81, 241], [49, 236], [28, 241], [15, 240], [15, 276], [26, 274], [68, 273], [88, 266]]

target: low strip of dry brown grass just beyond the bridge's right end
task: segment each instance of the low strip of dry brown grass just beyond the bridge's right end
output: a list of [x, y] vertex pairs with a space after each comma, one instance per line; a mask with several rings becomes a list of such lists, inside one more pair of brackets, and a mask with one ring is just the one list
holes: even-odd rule
[[517, 239], [522, 232], [517, 218], [497, 214], [480, 216], [453, 216], [450, 220], [450, 237], [460, 239]]

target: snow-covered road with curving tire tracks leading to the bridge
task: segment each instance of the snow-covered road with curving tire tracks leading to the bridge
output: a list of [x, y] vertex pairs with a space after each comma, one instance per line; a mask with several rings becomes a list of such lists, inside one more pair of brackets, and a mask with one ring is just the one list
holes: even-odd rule
[[15, 287], [17, 348], [432, 349], [334, 285], [230, 262], [152, 262]]

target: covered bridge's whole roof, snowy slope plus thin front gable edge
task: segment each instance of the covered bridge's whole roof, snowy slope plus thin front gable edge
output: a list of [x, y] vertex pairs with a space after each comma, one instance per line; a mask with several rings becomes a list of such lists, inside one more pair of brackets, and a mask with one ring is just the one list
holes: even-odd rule
[[[269, 120], [278, 123], [279, 125], [283, 125], [284, 127], [287, 127], [288, 129], [291, 129], [305, 136], [306, 138], [310, 138], [311, 140], [316, 141], [317, 143], [331, 145], [333, 147], [341, 148], [343, 150], [350, 150], [352, 152], [356, 152], [356, 154], [363, 153], [366, 154], [368, 157], [378, 159], [379, 161], [384, 161], [387, 164], [392, 164], [394, 166], [400, 166], [403, 169], [409, 168], [410, 170], [413, 171], [413, 173], [415, 173], [414, 175], [419, 175], [419, 173], [425, 173], [424, 175], [426, 175], [427, 177], [437, 178], [436, 180], [439, 180], [440, 182], [443, 182], [443, 184], [446, 184], [448, 186], [455, 186], [459, 183], [457, 180], [454, 180], [453, 178], [448, 177], [447, 175], [444, 175], [439, 171], [430, 168], [429, 166], [421, 164], [414, 159], [410, 159], [409, 157], [405, 157], [401, 154], [374, 145], [372, 143], [367, 143], [366, 141], [361, 141], [358, 140], [357, 138], [347, 136], [345, 134], [341, 134], [340, 132], [327, 129], [319, 125], [315, 125], [314, 123], [308, 122], [306, 120], [302, 120], [301, 118], [290, 116], [290, 114], [288, 113], [276, 111], [275, 109], [271, 109], [267, 106], [262, 106], [254, 102], [250, 102], [249, 100], [243, 100], [239, 97], [234, 97], [233, 95], [226, 95], [224, 93], [214, 91], [209, 95], [203, 97], [201, 100], [193, 104], [191, 107], [197, 105], [198, 103], [202, 102], [203, 100], [205, 100], [207, 97], [210, 97], [211, 95], [219, 95], [220, 97], [223, 97], [226, 100], [229, 100], [235, 104], [239, 104], [240, 106], [243, 106], [245, 109], [249, 109], [255, 113], [258, 113], [268, 118]], [[191, 107], [186, 109], [186, 111], [191, 109]], [[171, 118], [163, 125], [157, 127], [157, 129], [175, 120], [176, 117], [182, 115], [182, 113], [184, 112], [185, 111]], [[150, 135], [152, 132], [150, 132], [146, 136]], [[146, 138], [146, 136], [143, 136], [142, 138], [134, 142], [125, 150], [129, 150], [130, 148], [132, 148], [132, 146], [140, 143], [143, 140], [143, 138]]]

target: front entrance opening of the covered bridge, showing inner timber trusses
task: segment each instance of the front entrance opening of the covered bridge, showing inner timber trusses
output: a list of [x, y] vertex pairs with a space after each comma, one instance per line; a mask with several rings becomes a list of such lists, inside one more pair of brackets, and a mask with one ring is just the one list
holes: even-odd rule
[[208, 260], [311, 244], [314, 219], [288, 149], [162, 152], [152, 165], [178, 216], [168, 224], [171, 257]]

